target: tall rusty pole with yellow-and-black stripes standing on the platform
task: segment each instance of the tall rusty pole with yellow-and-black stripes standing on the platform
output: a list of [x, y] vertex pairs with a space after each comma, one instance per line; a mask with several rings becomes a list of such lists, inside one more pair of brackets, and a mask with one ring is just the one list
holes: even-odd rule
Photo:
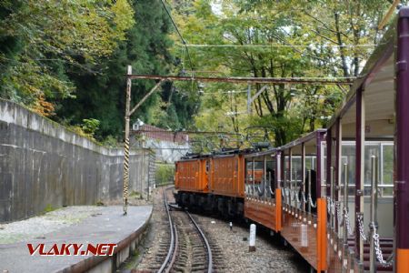
[[126, 74], [126, 102], [125, 102], [125, 147], [124, 147], [124, 215], [127, 214], [128, 208], [128, 185], [129, 185], [129, 118], [131, 115], [131, 87], [132, 66], [127, 66]]

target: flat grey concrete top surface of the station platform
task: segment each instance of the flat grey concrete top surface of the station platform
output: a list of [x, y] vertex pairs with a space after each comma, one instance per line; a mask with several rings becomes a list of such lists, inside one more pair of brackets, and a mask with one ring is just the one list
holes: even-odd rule
[[[144, 227], [152, 213], [152, 206], [128, 207], [123, 216], [122, 207], [64, 207], [40, 217], [0, 225], [0, 272], [55, 272], [75, 268], [79, 263], [89, 264], [95, 257], [31, 256], [27, 244], [35, 248], [45, 244], [45, 252], [53, 245], [62, 244], [124, 244]], [[74, 248], [71, 248], [73, 253]], [[105, 257], [98, 257], [103, 261]], [[86, 260], [86, 262], [85, 262]]]

